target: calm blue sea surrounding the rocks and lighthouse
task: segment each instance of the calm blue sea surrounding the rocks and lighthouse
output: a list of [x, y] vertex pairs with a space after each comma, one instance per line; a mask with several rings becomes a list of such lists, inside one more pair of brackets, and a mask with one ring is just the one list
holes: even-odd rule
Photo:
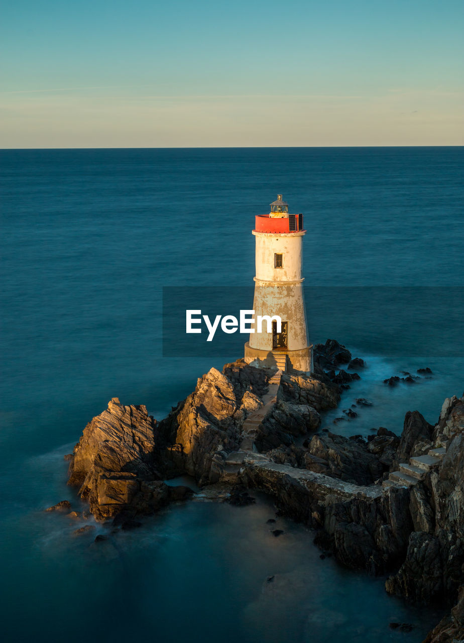
[[[434, 350], [442, 334], [463, 334], [461, 316], [442, 306], [443, 293], [462, 306], [463, 149], [3, 150], [0, 163], [8, 640], [129, 636], [138, 622], [138, 635], [160, 642], [220, 632], [226, 641], [380, 643], [398, 638], [389, 620], [415, 622], [402, 637], [422, 640], [428, 612], [387, 597], [382, 579], [320, 561], [292, 523], [288, 538], [269, 539], [265, 500], [236, 511], [172, 507], [105, 552], [40, 510], [73, 498], [62, 454], [111, 397], [161, 418], [208, 368], [240, 356], [163, 358], [161, 287], [252, 283], [253, 216], [277, 193], [305, 213], [306, 283], [346, 289], [359, 305], [348, 311], [342, 299], [329, 314], [307, 301], [310, 319], [319, 311], [312, 339], [334, 336], [369, 365], [341, 409], [356, 397], [373, 406], [336, 430], [399, 432], [414, 409], [435, 421], [444, 397], [463, 391], [460, 341], [455, 353], [449, 343]], [[367, 315], [372, 287], [436, 288], [433, 323], [421, 323], [423, 309], [403, 318], [390, 300]], [[373, 334], [381, 323], [395, 329], [394, 347]], [[407, 340], [411, 324], [423, 353]], [[382, 383], [425, 365], [433, 378], [418, 385]], [[335, 430], [340, 414], [326, 424]]]

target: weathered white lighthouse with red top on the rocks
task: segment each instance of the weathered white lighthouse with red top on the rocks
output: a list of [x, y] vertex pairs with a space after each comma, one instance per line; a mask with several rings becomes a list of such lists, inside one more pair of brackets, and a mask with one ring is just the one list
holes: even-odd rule
[[312, 345], [308, 340], [303, 277], [302, 241], [306, 234], [302, 214], [289, 214], [289, 204], [279, 194], [269, 214], [256, 215], [254, 316], [274, 316], [271, 332], [255, 328], [245, 344], [245, 362], [282, 372], [312, 370]]

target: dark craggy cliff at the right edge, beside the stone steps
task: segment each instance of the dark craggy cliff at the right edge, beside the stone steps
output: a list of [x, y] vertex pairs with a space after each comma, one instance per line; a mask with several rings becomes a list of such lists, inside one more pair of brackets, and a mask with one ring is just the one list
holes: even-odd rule
[[411, 491], [415, 530], [404, 563], [386, 587], [415, 602], [449, 603], [464, 582], [464, 398], [447, 399], [434, 428], [420, 418], [420, 431], [411, 429], [415, 422], [405, 421], [409, 438], [416, 438], [406, 437], [402, 444], [413, 444], [413, 451], [422, 449], [428, 436], [433, 446], [447, 440], [447, 447], [440, 464]]

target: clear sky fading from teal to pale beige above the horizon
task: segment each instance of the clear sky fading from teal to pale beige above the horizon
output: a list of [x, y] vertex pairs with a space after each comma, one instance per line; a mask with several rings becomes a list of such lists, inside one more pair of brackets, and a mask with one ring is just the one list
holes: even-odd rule
[[1, 5], [1, 148], [464, 144], [461, 0]]

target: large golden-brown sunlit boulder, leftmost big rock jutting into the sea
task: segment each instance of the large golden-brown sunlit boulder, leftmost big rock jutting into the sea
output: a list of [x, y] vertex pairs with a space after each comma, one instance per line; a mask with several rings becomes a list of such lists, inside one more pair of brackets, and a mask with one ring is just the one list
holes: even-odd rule
[[114, 397], [93, 418], [73, 451], [68, 484], [79, 487], [96, 520], [120, 512], [148, 513], [169, 500], [157, 472], [156, 421], [145, 406]]

